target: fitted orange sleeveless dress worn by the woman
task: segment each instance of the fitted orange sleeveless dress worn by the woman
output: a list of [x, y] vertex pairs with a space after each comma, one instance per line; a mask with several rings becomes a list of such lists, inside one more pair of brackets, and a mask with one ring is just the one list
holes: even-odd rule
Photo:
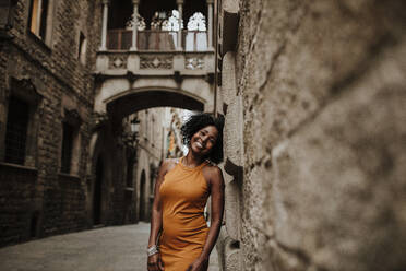
[[160, 185], [163, 232], [159, 250], [165, 271], [184, 271], [202, 252], [207, 236], [204, 207], [210, 196], [202, 168], [187, 167], [182, 160]]

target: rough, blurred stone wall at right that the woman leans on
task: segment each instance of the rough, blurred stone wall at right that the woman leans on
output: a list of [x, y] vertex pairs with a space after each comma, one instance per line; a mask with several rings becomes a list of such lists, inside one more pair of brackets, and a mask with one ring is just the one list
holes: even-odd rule
[[226, 205], [223, 268], [403, 270], [405, 2], [242, 0], [238, 10], [220, 92], [226, 200], [241, 208]]

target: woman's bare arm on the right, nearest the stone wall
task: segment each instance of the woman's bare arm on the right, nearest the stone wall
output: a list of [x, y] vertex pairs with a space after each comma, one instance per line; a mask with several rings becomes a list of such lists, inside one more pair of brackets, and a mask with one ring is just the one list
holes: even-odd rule
[[224, 179], [222, 169], [217, 166], [213, 166], [207, 170], [207, 179], [211, 188], [211, 198], [212, 198], [212, 213], [211, 213], [211, 223], [210, 229], [207, 234], [206, 241], [203, 246], [202, 254], [199, 258], [193, 261], [192, 264], [189, 266], [187, 271], [200, 271], [205, 270], [205, 266], [207, 264], [210, 254], [216, 240], [218, 238], [218, 234], [222, 227], [223, 222], [223, 212], [224, 212]]

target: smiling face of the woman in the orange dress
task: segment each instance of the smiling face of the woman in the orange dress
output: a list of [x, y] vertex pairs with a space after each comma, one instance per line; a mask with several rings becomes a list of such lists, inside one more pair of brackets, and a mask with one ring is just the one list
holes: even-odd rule
[[192, 152], [206, 156], [216, 144], [218, 130], [215, 126], [206, 126], [195, 132], [190, 140], [190, 149]]

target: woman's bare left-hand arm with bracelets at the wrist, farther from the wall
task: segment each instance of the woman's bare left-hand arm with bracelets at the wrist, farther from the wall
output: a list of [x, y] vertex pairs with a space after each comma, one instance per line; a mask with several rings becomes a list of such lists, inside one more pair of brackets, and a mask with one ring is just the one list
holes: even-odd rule
[[[159, 196], [159, 187], [164, 182], [165, 174], [170, 168], [171, 162], [166, 160], [160, 165], [158, 177], [155, 181], [155, 189], [154, 189], [154, 203], [152, 208], [151, 214], [151, 232], [150, 232], [150, 240], [148, 240], [148, 248], [152, 246], [157, 245], [158, 234], [163, 227], [163, 209]], [[164, 270], [163, 262], [160, 260], [160, 254], [155, 254], [148, 257], [147, 262], [148, 271], [160, 271]]]

